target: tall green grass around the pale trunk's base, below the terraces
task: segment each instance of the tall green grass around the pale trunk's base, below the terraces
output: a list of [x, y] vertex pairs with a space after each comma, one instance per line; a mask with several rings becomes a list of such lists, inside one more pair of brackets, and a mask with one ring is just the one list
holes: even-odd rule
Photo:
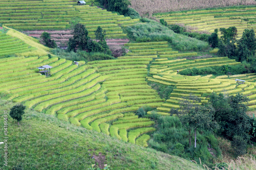
[[[214, 165], [212, 160], [221, 156], [216, 137], [207, 130], [198, 130], [198, 145], [195, 148], [193, 145], [189, 145], [189, 133], [178, 117], [160, 116], [157, 122], [158, 130], [148, 141], [150, 147], [189, 160], [199, 161], [200, 158], [203, 163], [209, 166]], [[191, 141], [195, 140], [192, 136]], [[214, 155], [208, 151], [208, 147], [212, 148], [211, 152]]]

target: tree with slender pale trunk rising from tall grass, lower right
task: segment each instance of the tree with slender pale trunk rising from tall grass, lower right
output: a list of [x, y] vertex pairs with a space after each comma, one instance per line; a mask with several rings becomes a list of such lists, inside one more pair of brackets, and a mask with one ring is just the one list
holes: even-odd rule
[[[211, 106], [200, 106], [196, 102], [200, 102], [200, 98], [190, 95], [184, 101], [180, 102], [180, 111], [175, 110], [176, 115], [180, 117], [180, 122], [189, 132], [189, 145], [191, 145], [191, 130], [194, 129], [195, 148], [196, 148], [196, 130], [198, 128], [213, 131], [219, 128], [219, 125], [214, 120], [214, 108]], [[172, 110], [173, 111], [173, 110]], [[174, 113], [174, 112], [173, 112]], [[171, 113], [170, 115], [173, 115]]]

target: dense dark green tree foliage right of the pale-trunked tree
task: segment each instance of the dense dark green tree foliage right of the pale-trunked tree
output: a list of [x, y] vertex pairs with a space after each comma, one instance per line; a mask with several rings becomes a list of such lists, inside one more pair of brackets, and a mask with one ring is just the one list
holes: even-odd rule
[[219, 133], [232, 139], [241, 136], [243, 140], [249, 140], [252, 118], [247, 114], [246, 102], [249, 99], [241, 94], [224, 96], [222, 93], [210, 95], [210, 102], [215, 108], [215, 119], [221, 126]]

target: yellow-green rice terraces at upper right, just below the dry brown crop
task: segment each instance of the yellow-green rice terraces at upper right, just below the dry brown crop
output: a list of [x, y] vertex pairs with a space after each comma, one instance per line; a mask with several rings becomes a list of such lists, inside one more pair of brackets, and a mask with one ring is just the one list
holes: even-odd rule
[[[176, 12], [172, 14], [155, 15], [164, 19], [167, 24], [184, 23], [193, 27], [192, 30], [214, 32], [214, 29], [236, 27], [238, 38], [242, 37], [244, 29], [256, 28], [256, 7], [232, 7], [214, 10], [195, 10]], [[219, 35], [220, 32], [218, 32]]]

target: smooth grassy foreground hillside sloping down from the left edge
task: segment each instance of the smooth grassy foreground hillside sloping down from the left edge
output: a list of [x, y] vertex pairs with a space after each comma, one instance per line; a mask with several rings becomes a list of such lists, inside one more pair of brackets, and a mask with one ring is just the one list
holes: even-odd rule
[[[14, 103], [0, 102], [1, 117]], [[18, 127], [8, 116], [8, 167], [22, 165], [28, 169], [87, 169], [95, 160], [91, 157], [102, 153], [105, 164], [111, 169], [201, 169], [194, 163], [177, 156], [168, 155], [150, 148], [76, 127], [62, 122], [55, 116], [26, 110]], [[3, 127], [3, 121], [1, 121]], [[3, 139], [3, 128], [1, 130]], [[0, 150], [3, 151], [3, 145]], [[89, 155], [90, 154], [90, 155]], [[3, 152], [1, 160], [3, 162]]]

